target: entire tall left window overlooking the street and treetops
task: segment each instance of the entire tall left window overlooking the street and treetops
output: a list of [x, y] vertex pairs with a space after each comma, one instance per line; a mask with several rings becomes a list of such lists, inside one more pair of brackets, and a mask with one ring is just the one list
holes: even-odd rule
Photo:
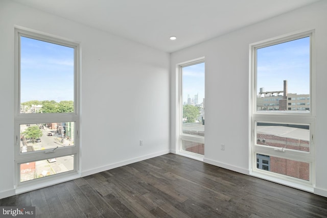
[[15, 46], [17, 185], [76, 174], [79, 45], [15, 29]]

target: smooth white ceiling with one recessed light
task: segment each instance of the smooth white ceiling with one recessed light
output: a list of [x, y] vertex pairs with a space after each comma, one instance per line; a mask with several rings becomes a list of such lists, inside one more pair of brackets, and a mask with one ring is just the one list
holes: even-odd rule
[[171, 53], [320, 0], [12, 1]]

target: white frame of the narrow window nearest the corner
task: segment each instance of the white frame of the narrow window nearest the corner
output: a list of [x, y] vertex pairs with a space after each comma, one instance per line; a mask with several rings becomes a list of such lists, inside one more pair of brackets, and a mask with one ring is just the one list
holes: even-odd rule
[[[183, 155], [186, 157], [190, 157], [196, 160], [203, 161], [204, 155], [188, 152], [182, 149], [182, 140], [192, 141], [192, 142], [198, 142], [204, 144], [204, 136], [199, 135], [190, 135], [190, 134], [184, 134], [182, 132], [183, 124], [182, 124], [182, 113], [183, 113], [183, 75], [182, 75], [182, 69], [186, 66], [191, 66], [199, 63], [205, 63], [204, 57], [193, 59], [190, 61], [182, 62], [177, 64], [178, 69], [178, 120], [177, 120], [177, 131], [178, 131], [178, 152], [177, 154]], [[205, 69], [205, 68], [204, 68]], [[204, 73], [205, 75], [205, 73]], [[205, 85], [204, 85], [205, 87]]]

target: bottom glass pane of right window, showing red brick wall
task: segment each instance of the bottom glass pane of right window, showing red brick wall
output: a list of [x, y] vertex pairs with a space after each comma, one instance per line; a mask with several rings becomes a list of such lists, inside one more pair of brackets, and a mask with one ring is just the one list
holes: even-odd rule
[[310, 163], [261, 154], [257, 154], [256, 157], [260, 159], [268, 158], [269, 164], [256, 164], [256, 167], [259, 169], [302, 180], [310, 180]]

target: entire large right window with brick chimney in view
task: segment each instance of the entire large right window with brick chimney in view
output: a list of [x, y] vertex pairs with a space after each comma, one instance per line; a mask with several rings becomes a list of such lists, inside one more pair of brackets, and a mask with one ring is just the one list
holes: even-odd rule
[[307, 32], [251, 45], [252, 173], [308, 187], [315, 160], [312, 40]]

